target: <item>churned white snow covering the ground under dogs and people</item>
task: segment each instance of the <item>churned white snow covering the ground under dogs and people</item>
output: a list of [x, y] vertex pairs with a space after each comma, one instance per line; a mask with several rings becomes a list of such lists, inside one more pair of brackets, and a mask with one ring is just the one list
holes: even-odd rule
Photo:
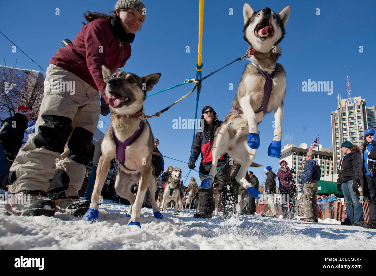
[[141, 210], [141, 227], [127, 226], [129, 205], [104, 201], [99, 220], [89, 224], [67, 214], [55, 217], [9, 216], [0, 205], [0, 250], [373, 250], [376, 230], [341, 226], [336, 220], [320, 223], [288, 221], [261, 216], [194, 219], [194, 210], [173, 209], [153, 217]]

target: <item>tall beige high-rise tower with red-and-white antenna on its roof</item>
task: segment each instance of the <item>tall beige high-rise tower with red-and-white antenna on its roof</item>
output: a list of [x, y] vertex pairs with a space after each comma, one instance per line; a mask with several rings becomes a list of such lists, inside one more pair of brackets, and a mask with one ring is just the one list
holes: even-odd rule
[[360, 146], [364, 141], [364, 130], [376, 127], [374, 106], [367, 107], [361, 97], [341, 99], [338, 96], [337, 110], [331, 112], [334, 173], [343, 157], [341, 144], [350, 141]]

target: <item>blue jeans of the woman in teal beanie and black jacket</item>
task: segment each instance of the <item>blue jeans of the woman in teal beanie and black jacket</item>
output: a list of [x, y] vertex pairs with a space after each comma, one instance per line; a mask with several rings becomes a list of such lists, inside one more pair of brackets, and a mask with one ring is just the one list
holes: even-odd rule
[[354, 193], [352, 189], [352, 179], [342, 182], [343, 197], [346, 202], [347, 219], [350, 224], [360, 222], [364, 224], [363, 206], [359, 203], [359, 192]]

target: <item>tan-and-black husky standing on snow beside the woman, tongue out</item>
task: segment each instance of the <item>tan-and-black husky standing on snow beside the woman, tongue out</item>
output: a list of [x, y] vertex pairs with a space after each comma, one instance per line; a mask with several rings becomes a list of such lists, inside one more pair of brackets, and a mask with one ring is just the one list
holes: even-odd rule
[[[111, 110], [111, 124], [102, 142], [102, 156], [99, 159], [97, 178], [91, 196], [91, 204], [83, 220], [94, 222], [98, 218], [99, 197], [103, 183], [113, 158], [119, 161], [115, 191], [122, 198], [130, 201], [127, 217], [128, 225], [140, 228], [140, 212], [147, 187], [150, 189], [150, 202], [154, 216], [162, 219], [155, 202], [157, 190], [152, 152], [154, 137], [149, 123], [142, 120], [146, 92], [158, 83], [161, 74], [150, 74], [143, 77], [111, 70], [102, 66], [103, 80], [107, 84], [105, 94]], [[137, 196], [130, 192], [130, 186], [138, 182]], [[134, 208], [133, 208], [134, 207]]]

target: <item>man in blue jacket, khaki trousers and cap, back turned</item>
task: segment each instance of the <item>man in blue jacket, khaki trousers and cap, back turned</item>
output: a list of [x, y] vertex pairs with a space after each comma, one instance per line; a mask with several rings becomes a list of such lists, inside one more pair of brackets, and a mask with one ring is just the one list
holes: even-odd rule
[[321, 169], [314, 160], [315, 154], [309, 151], [306, 154], [306, 163], [302, 173], [300, 184], [303, 184], [303, 205], [306, 218], [300, 220], [305, 222], [318, 222], [317, 213], [317, 187], [321, 178]]

